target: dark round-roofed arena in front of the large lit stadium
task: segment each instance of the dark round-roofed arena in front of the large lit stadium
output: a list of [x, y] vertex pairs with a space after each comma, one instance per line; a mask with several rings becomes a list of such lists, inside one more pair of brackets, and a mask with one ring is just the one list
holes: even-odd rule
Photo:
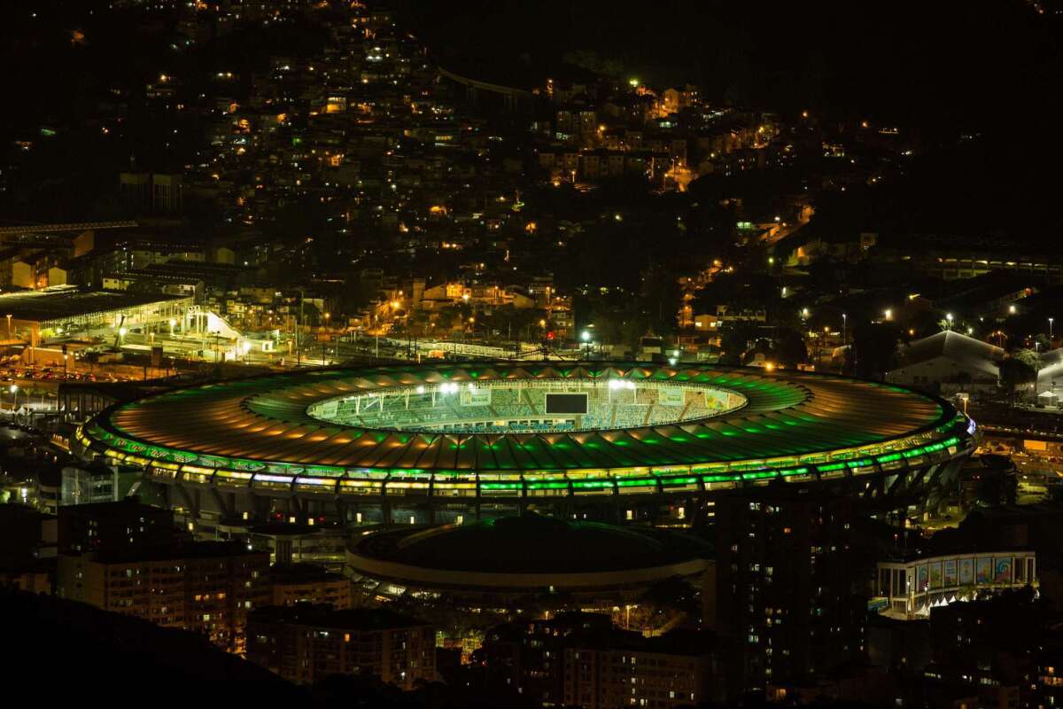
[[358, 536], [347, 567], [365, 595], [405, 596], [419, 610], [431, 603], [551, 610], [571, 604], [609, 611], [638, 603], [671, 578], [702, 584], [711, 559], [708, 544], [670, 529], [528, 512]]

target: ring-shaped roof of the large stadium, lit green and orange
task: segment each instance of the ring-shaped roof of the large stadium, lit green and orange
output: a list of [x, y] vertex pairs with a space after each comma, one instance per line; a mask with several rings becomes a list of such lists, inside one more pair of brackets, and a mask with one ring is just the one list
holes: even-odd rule
[[[374, 428], [330, 423], [307, 411], [328, 399], [411, 387], [444, 391], [455, 384], [610, 379], [702, 385], [737, 392], [746, 402], [702, 419], [543, 433]], [[103, 411], [79, 429], [78, 441], [129, 462], [186, 473], [226, 470], [256, 479], [462, 473], [527, 478], [538, 472], [799, 470], [833, 460], [854, 466], [862, 456], [956, 445], [972, 431], [943, 400], [839, 376], [694, 364], [473, 362], [300, 371], [178, 389]]]

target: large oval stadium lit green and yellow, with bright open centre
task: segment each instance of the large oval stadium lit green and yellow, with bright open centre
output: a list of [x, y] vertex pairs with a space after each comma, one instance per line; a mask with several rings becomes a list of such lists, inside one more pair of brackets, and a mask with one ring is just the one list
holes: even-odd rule
[[196, 525], [437, 524], [540, 509], [689, 524], [713, 499], [833, 486], [937, 504], [975, 446], [944, 400], [795, 371], [646, 362], [304, 370], [176, 389], [83, 424]]

